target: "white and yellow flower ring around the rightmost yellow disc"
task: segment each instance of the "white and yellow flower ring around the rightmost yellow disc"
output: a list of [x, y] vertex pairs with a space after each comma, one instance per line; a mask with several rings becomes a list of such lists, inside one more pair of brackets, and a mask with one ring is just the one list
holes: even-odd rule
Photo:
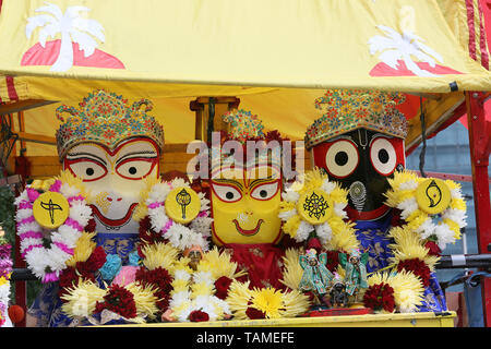
[[[418, 177], [411, 171], [398, 171], [390, 179], [391, 189], [385, 194], [386, 204], [400, 209], [408, 229], [419, 233], [422, 240], [434, 241], [443, 250], [447, 243], [454, 243], [460, 238], [460, 229], [466, 224], [466, 203], [460, 185], [452, 180], [443, 181], [448, 188], [451, 200], [439, 214], [424, 212], [417, 200], [418, 186], [429, 179]], [[430, 179], [431, 180], [431, 179]]]

